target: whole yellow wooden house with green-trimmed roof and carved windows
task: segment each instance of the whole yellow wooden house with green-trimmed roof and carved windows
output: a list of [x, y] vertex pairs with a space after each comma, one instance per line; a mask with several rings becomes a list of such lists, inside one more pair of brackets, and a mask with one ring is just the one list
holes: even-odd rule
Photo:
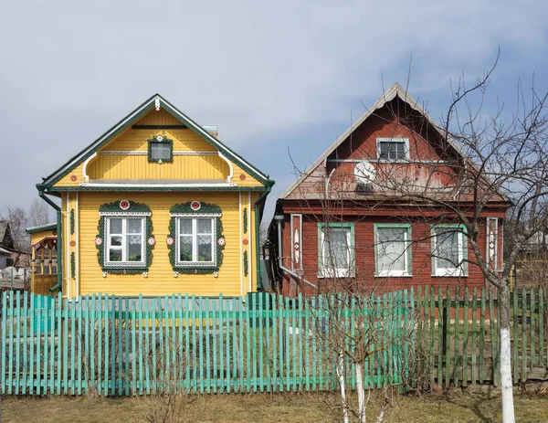
[[37, 184], [58, 216], [58, 276], [48, 288], [68, 299], [256, 291], [272, 185], [155, 94]]

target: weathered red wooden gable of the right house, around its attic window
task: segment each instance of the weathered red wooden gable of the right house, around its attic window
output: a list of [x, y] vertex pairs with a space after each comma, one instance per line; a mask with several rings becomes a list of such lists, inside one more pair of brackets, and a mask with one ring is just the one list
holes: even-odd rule
[[[394, 139], [405, 141], [406, 159], [401, 163], [379, 160], [378, 142]], [[452, 189], [451, 185], [457, 183], [457, 174], [449, 164], [459, 159], [439, 132], [419, 114], [406, 111], [406, 103], [395, 97], [354, 127], [329, 153], [323, 154], [321, 163], [304, 174], [285, 198], [322, 198], [329, 178], [331, 195], [364, 199], [364, 193], [357, 194], [354, 176], [356, 164], [362, 162], [374, 166], [379, 190], [395, 181], [412, 181], [414, 185], [427, 185], [436, 190]]]

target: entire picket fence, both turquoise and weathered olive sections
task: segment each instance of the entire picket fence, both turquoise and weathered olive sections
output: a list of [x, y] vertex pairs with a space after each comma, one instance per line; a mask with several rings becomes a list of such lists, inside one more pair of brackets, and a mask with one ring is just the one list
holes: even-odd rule
[[[418, 287], [362, 298], [57, 297], [5, 291], [0, 390], [150, 395], [431, 388], [500, 381], [493, 291]], [[548, 380], [543, 289], [511, 294], [514, 383]], [[342, 358], [341, 358], [342, 357]]]

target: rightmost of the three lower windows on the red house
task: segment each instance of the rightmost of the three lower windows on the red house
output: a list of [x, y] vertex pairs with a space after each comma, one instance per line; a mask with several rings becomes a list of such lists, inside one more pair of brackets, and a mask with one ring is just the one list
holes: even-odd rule
[[434, 276], [466, 276], [468, 273], [467, 240], [464, 228], [432, 227], [432, 274]]

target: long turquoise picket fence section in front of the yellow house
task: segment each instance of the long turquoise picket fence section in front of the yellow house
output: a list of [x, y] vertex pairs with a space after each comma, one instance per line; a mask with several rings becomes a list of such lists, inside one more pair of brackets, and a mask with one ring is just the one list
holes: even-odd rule
[[360, 362], [366, 387], [406, 386], [412, 378], [413, 291], [296, 300], [255, 293], [243, 300], [179, 294], [67, 301], [4, 292], [1, 392], [331, 390], [340, 352], [350, 388]]

